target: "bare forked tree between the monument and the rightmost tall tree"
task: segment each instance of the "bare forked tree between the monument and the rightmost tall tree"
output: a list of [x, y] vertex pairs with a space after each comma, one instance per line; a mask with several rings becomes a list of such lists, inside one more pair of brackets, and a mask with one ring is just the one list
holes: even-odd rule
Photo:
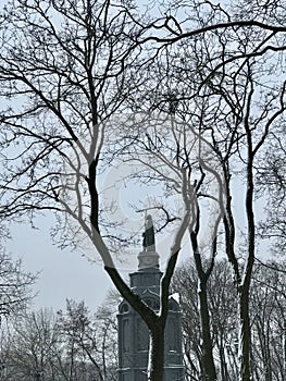
[[[166, 105], [166, 111], [169, 106], [172, 105]], [[179, 197], [181, 184], [185, 181], [184, 175], [187, 176], [191, 216], [188, 232], [198, 273], [198, 308], [203, 343], [202, 374], [206, 380], [214, 380], [216, 372], [212, 355], [207, 283], [213, 269], [216, 235], [224, 216], [224, 180], [220, 175], [217, 158], [209, 143], [190, 123], [170, 115], [164, 109], [148, 114], [146, 121], [141, 115], [138, 122], [136, 116], [129, 116], [125, 123], [126, 128], [123, 127], [119, 134], [119, 144], [123, 144], [121, 149], [125, 160], [138, 162], [140, 171], [134, 176], [142, 182], [163, 184], [161, 200], [158, 197], [157, 204], [149, 206], [161, 209], [158, 216], [161, 223], [162, 220], [165, 225], [179, 221], [181, 208], [184, 206], [184, 198]], [[133, 125], [132, 132], [128, 123]], [[174, 194], [178, 196], [177, 210], [172, 212]]]

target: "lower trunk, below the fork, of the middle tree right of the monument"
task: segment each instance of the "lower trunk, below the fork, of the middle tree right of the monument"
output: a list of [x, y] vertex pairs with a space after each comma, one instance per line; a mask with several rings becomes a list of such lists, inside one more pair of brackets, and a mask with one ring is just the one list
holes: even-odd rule
[[210, 315], [208, 307], [207, 282], [199, 280], [199, 309], [202, 335], [202, 381], [215, 381], [216, 371], [212, 355]]

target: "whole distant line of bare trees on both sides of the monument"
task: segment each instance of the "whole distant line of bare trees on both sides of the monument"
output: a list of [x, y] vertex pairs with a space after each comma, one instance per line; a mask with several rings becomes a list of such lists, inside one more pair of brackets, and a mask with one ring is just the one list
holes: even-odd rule
[[[258, 261], [250, 293], [253, 380], [285, 381], [285, 262]], [[186, 381], [202, 373], [202, 342], [192, 262], [177, 269], [172, 292], [179, 294]], [[211, 340], [220, 381], [237, 381], [239, 329], [229, 265], [215, 262], [208, 285]], [[65, 310], [41, 309], [18, 315], [2, 332], [1, 378], [5, 381], [115, 381], [116, 312], [120, 296], [112, 292], [96, 312], [83, 302], [66, 302]]]

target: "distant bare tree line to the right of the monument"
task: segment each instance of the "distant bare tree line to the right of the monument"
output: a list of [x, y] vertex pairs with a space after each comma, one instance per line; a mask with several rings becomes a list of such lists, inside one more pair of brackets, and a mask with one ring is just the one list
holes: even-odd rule
[[[256, 262], [250, 291], [252, 328], [251, 374], [256, 381], [286, 380], [286, 272], [284, 262]], [[198, 278], [190, 262], [174, 276], [183, 311], [187, 381], [201, 380], [201, 327], [197, 300]], [[208, 286], [211, 339], [220, 381], [237, 381], [239, 374], [237, 302], [229, 263], [214, 266]]]

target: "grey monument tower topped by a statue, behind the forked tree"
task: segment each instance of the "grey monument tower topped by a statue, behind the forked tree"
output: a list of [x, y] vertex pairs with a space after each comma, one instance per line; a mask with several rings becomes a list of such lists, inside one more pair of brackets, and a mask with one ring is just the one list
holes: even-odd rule
[[[151, 216], [145, 220], [142, 250], [138, 255], [138, 271], [129, 274], [130, 287], [154, 311], [160, 308], [159, 254], [156, 251]], [[170, 297], [165, 328], [164, 381], [183, 381], [182, 314], [178, 303]], [[119, 306], [119, 381], [147, 381], [149, 332], [140, 316], [122, 300]]]

